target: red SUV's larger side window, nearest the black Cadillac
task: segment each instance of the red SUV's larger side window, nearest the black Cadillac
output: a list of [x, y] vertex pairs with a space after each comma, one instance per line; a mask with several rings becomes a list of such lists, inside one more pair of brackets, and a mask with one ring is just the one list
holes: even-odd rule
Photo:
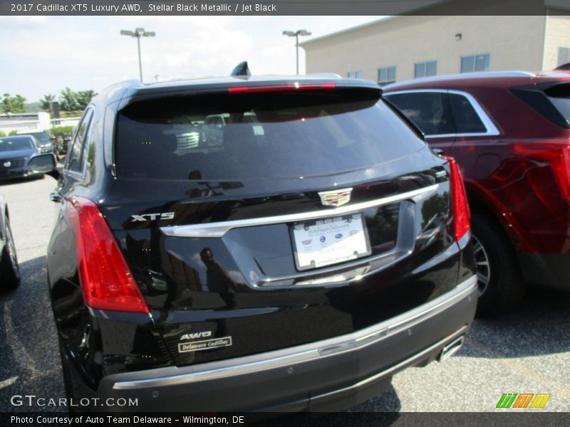
[[426, 136], [455, 133], [444, 92], [410, 92], [383, 95], [418, 126]]

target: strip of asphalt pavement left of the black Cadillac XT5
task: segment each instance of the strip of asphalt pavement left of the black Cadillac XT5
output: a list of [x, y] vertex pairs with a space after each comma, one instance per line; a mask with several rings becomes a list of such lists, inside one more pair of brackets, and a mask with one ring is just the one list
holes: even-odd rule
[[22, 410], [11, 406], [16, 394], [65, 396], [46, 283], [46, 247], [57, 209], [48, 195], [55, 187], [49, 176], [0, 184], [22, 275], [19, 288], [0, 293], [0, 411]]

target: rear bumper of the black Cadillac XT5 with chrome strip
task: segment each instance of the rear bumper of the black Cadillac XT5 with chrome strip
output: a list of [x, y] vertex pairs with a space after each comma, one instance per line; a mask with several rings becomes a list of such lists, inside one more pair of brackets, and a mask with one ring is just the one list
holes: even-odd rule
[[437, 359], [444, 347], [457, 349], [476, 304], [472, 276], [421, 307], [353, 334], [219, 362], [105, 376], [97, 396], [137, 399], [138, 406], [125, 411], [340, 409], [383, 391], [398, 371]]

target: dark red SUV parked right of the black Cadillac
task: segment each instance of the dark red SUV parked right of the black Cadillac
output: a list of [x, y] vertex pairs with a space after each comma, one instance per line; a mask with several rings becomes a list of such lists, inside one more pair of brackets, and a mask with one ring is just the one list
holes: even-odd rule
[[527, 283], [570, 290], [570, 73], [467, 73], [383, 90], [460, 164], [479, 314], [516, 304]]

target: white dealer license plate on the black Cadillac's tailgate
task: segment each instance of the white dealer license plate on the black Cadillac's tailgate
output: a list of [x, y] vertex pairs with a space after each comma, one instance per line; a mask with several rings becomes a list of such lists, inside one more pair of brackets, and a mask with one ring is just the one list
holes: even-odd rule
[[297, 223], [290, 232], [298, 270], [343, 263], [372, 253], [361, 214]]

